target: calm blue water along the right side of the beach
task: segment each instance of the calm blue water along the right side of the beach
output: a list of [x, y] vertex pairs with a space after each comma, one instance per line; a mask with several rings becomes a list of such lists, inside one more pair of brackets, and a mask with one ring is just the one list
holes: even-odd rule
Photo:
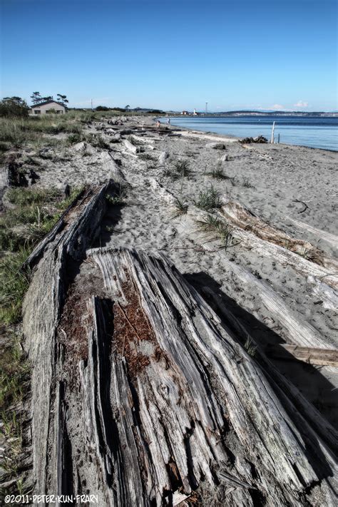
[[[161, 121], [165, 123], [166, 118]], [[310, 146], [338, 151], [338, 118], [316, 116], [188, 116], [172, 117], [175, 126], [235, 135], [239, 138], [264, 135], [271, 138], [272, 123], [275, 121], [275, 142], [280, 134], [280, 143]]]

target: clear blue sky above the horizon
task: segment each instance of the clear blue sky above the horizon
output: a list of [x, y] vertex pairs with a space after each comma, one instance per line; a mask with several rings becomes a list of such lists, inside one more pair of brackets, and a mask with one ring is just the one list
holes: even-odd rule
[[0, 0], [1, 96], [337, 110], [333, 0]]

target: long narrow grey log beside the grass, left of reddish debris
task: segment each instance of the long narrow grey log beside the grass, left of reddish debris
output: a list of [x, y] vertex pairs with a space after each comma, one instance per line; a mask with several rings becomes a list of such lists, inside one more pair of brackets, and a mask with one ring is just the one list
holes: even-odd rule
[[56, 389], [55, 378], [58, 360], [56, 326], [68, 285], [68, 272], [83, 258], [86, 248], [99, 232], [106, 209], [105, 195], [111, 184], [108, 182], [97, 188], [88, 188], [26, 262], [31, 268], [38, 265], [23, 305], [25, 347], [34, 365], [31, 376], [31, 433], [36, 493], [56, 491], [50, 488], [51, 480], [47, 476], [51, 452], [56, 453], [55, 446], [50, 441], [48, 443], [48, 437], [55, 431], [51, 426], [52, 399], [61, 389], [61, 386]]

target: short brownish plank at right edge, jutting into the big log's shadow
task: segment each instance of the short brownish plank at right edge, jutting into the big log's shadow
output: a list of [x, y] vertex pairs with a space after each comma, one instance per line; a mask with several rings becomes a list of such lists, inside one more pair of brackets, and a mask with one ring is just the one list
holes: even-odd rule
[[[335, 349], [312, 349], [298, 345], [268, 345], [265, 350], [269, 357], [290, 361], [292, 357], [309, 364], [338, 367], [338, 351]], [[290, 356], [291, 354], [291, 356]]]

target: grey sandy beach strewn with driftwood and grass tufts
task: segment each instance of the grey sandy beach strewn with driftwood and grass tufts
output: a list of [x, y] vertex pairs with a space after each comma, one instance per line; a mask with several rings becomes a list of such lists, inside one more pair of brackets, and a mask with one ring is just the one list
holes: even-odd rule
[[[88, 126], [88, 133], [100, 135], [109, 150], [78, 143], [45, 149], [42, 158], [27, 151], [23, 157], [37, 162], [35, 185], [63, 189], [102, 183], [116, 178], [117, 162], [126, 196], [118, 213], [115, 207], [108, 212], [96, 246], [161, 252], [195, 287], [212, 287], [254, 329], [257, 342], [292, 342], [290, 330], [264, 304], [260, 295], [264, 284], [319, 342], [327, 348], [337, 346], [337, 313], [314, 290], [311, 275], [278, 260], [273, 251], [250, 245], [250, 239], [218, 250], [220, 242], [199, 230], [194, 202], [201, 192], [215, 188], [222, 202], [240, 203], [272, 227], [337, 259], [338, 155], [291, 145], [242, 145], [235, 138], [175, 127], [158, 129], [153, 118], [122, 118], [122, 123]], [[131, 149], [128, 139], [134, 141]], [[215, 149], [212, 143], [224, 149]], [[187, 177], [172, 177], [178, 160], [187, 161]], [[28, 172], [29, 164], [24, 168]], [[210, 175], [215, 168], [222, 169], [222, 180]], [[175, 216], [175, 199], [188, 205], [186, 214]], [[307, 247], [300, 254], [306, 258]], [[250, 279], [245, 280], [246, 274]], [[337, 298], [337, 292], [334, 295]], [[337, 396], [332, 391], [336, 373], [300, 362], [276, 360], [276, 364], [337, 424]]]

